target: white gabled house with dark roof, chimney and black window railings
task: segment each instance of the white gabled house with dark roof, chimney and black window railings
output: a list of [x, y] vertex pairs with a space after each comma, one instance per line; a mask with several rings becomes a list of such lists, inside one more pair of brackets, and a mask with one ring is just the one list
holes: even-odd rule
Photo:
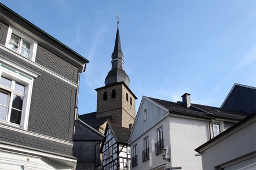
[[144, 96], [128, 140], [131, 169], [202, 169], [194, 149], [247, 115], [191, 104], [188, 93], [177, 103]]

